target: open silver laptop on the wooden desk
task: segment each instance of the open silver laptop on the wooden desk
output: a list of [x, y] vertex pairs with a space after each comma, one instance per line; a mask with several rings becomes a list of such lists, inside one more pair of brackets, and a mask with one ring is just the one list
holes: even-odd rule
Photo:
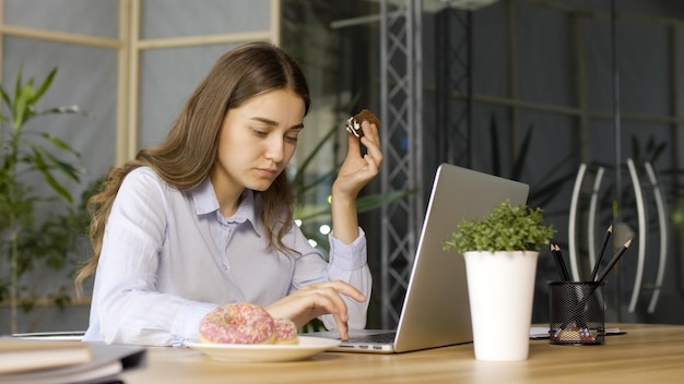
[[[350, 331], [337, 351], [394, 353], [472, 341], [465, 263], [443, 241], [463, 217], [527, 202], [529, 185], [467, 168], [438, 167], [397, 329]], [[339, 338], [337, 331], [307, 336]]]

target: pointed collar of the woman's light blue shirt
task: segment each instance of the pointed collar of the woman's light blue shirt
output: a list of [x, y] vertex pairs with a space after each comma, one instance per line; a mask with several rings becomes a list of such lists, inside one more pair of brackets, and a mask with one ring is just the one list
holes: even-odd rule
[[240, 205], [237, 207], [237, 212], [231, 216], [223, 218], [219, 211], [219, 200], [214, 192], [214, 187], [211, 183], [211, 178], [207, 178], [198, 188], [192, 190], [192, 200], [194, 201], [194, 212], [198, 216], [215, 213], [219, 219], [223, 219], [227, 223], [251, 223], [252, 228], [257, 235], [261, 236], [261, 228], [257, 220], [257, 204], [255, 191], [245, 189], [243, 192]]

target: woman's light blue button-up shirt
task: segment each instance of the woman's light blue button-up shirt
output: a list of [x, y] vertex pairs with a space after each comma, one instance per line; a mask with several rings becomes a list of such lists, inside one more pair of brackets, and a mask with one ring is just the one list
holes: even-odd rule
[[[105, 229], [84, 340], [180, 345], [221, 304], [268, 305], [312, 283], [344, 280], [370, 297], [363, 230], [351, 244], [329, 236], [327, 262], [293, 224], [283, 241], [300, 254], [285, 255], [267, 248], [258, 206], [246, 190], [226, 218], [209, 178], [180, 192], [149, 167], [130, 172]], [[365, 327], [368, 301], [344, 299], [350, 328]]]

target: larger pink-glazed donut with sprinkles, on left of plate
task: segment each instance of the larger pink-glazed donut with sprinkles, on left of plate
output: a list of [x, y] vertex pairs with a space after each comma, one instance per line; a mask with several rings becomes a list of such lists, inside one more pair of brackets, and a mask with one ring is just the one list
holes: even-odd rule
[[241, 302], [219, 307], [202, 319], [200, 343], [272, 344], [275, 323], [261, 307]]

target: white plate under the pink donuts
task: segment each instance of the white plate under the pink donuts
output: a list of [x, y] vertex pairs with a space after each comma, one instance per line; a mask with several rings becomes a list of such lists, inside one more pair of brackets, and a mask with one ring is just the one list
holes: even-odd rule
[[340, 345], [340, 340], [299, 336], [298, 344], [205, 344], [185, 341], [187, 347], [224, 361], [295, 361], [309, 358]]

